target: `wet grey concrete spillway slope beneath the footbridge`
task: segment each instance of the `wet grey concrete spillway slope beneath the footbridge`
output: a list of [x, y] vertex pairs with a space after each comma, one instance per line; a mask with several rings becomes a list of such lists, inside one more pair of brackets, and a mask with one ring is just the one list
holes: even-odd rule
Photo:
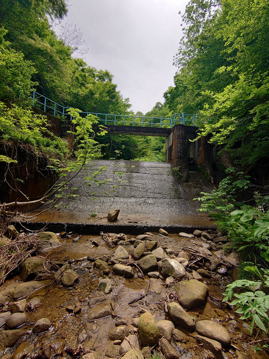
[[[98, 182], [90, 187], [83, 185], [84, 177], [96, 172], [94, 181], [109, 181], [102, 186]], [[169, 230], [214, 227], [212, 221], [197, 212], [199, 204], [193, 201], [201, 191], [211, 191], [211, 185], [198, 171], [190, 172], [189, 183], [180, 183], [171, 163], [98, 160], [81, 171], [69, 186], [79, 188], [78, 196], [62, 200], [61, 211], [38, 216], [32, 221], [32, 229], [46, 222], [56, 232], [65, 226], [67, 232], [79, 230], [85, 234], [104, 229], [126, 232], [126, 228], [129, 233], [141, 233], [142, 229], [156, 230], [160, 226]], [[109, 210], [118, 208], [120, 214], [115, 223], [102, 218]], [[98, 217], [90, 218], [91, 213]]]

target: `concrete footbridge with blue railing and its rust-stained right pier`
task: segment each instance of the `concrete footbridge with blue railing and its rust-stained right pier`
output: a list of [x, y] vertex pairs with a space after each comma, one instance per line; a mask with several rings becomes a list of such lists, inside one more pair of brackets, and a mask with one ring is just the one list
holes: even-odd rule
[[[53, 116], [72, 120], [67, 112], [70, 107], [62, 106], [35, 91], [32, 96], [32, 105]], [[106, 126], [111, 134], [166, 137], [165, 161], [179, 168], [181, 179], [185, 182], [189, 181], [190, 165], [199, 166], [204, 162], [212, 164], [215, 155], [214, 146], [204, 138], [195, 142], [190, 141], [197, 137], [196, 125], [200, 122], [197, 115], [175, 113], [171, 118], [165, 118], [83, 111], [80, 115], [82, 117], [95, 115], [98, 117], [98, 124]], [[210, 165], [206, 171], [211, 178]]]

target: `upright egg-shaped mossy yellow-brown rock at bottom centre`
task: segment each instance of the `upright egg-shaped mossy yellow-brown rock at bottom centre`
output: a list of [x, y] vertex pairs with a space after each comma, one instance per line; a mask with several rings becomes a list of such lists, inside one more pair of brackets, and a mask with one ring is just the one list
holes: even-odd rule
[[154, 316], [149, 313], [143, 313], [138, 319], [138, 332], [143, 346], [153, 346], [159, 340], [159, 329]]

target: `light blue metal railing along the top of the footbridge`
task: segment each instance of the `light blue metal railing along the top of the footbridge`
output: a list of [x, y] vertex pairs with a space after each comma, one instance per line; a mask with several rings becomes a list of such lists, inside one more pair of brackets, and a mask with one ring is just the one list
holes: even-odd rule
[[[66, 110], [70, 107], [62, 106], [57, 102], [33, 91], [33, 107], [42, 109], [44, 112], [52, 113], [53, 116], [67, 116]], [[171, 118], [165, 117], [147, 117], [147, 116], [129, 116], [129, 115], [112, 115], [109, 113], [80, 112], [81, 116], [89, 114], [99, 118], [103, 125], [125, 125], [125, 126], [142, 126], [142, 127], [164, 127], [172, 128], [176, 124], [196, 126], [197, 115], [188, 115], [186, 113], [175, 113]]]

